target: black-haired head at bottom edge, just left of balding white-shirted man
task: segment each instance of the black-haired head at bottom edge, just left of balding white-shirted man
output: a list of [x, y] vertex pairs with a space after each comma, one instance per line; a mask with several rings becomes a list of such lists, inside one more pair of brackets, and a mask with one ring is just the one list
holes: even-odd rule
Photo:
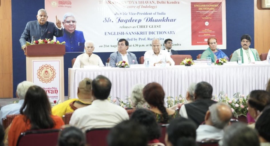
[[165, 135], [166, 146], [196, 146], [196, 124], [177, 117], [170, 122]]

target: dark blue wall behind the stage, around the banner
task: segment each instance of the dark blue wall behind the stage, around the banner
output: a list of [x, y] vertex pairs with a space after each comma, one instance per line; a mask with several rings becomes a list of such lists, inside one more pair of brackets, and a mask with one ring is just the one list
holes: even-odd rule
[[[28, 21], [36, 20], [37, 11], [44, 8], [44, 0], [12, 0], [12, 52], [13, 52], [13, 97], [16, 93], [17, 85], [26, 80], [25, 55], [19, 43], [19, 38]], [[91, 9], [91, 8], [89, 8]], [[49, 16], [55, 17], [55, 16]], [[87, 16], [85, 16], [87, 17]], [[234, 50], [240, 48], [240, 38], [243, 34], [249, 34], [254, 38], [254, 1], [247, 0], [227, 0], [226, 1], [226, 25], [227, 25], [227, 49], [223, 50], [227, 56], [230, 56]], [[102, 29], [102, 28], [100, 28]], [[102, 38], [100, 38], [102, 39]], [[104, 40], [106, 41], [106, 40]], [[151, 42], [150, 42], [151, 43]], [[117, 44], [117, 42], [115, 42]], [[205, 49], [208, 46], [205, 46]], [[254, 48], [254, 42], [251, 43]], [[152, 48], [149, 48], [152, 49]], [[115, 48], [117, 50], [117, 48]], [[190, 54], [196, 59], [203, 50], [183, 50], [179, 54]], [[137, 56], [144, 55], [144, 52], [133, 52]], [[65, 96], [68, 96], [68, 68], [71, 67], [72, 58], [76, 58], [80, 53], [67, 53], [64, 55], [64, 79]], [[96, 53], [100, 56], [103, 63], [110, 56], [111, 52]]]

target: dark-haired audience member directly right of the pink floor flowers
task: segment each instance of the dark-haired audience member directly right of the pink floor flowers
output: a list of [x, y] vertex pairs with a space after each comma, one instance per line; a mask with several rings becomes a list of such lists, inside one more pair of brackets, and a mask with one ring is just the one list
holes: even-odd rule
[[[264, 90], [253, 90], [249, 94], [249, 100], [247, 107], [249, 114], [255, 122], [259, 117], [261, 111], [270, 104], [270, 93]], [[255, 128], [255, 123], [248, 125], [251, 128]]]

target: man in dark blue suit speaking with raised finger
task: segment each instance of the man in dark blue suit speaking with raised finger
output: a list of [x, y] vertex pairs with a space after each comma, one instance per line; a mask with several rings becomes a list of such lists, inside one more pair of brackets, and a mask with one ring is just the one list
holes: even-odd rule
[[53, 36], [63, 36], [61, 21], [57, 19], [57, 16], [55, 17], [57, 27], [54, 25], [53, 22], [47, 21], [48, 16], [45, 9], [40, 9], [37, 11], [37, 20], [29, 21], [26, 24], [23, 33], [21, 34], [20, 43], [23, 51], [25, 51], [26, 41], [33, 41], [45, 38], [53, 40]]

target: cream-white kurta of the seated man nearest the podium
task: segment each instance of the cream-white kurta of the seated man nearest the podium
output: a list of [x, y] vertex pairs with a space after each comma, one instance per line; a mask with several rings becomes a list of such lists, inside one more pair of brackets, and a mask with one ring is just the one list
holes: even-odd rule
[[80, 54], [75, 62], [72, 68], [84, 68], [85, 65], [98, 65], [100, 67], [103, 67], [104, 64], [102, 63], [102, 60], [100, 57], [96, 54], [92, 54], [90, 57], [88, 54], [83, 53]]

